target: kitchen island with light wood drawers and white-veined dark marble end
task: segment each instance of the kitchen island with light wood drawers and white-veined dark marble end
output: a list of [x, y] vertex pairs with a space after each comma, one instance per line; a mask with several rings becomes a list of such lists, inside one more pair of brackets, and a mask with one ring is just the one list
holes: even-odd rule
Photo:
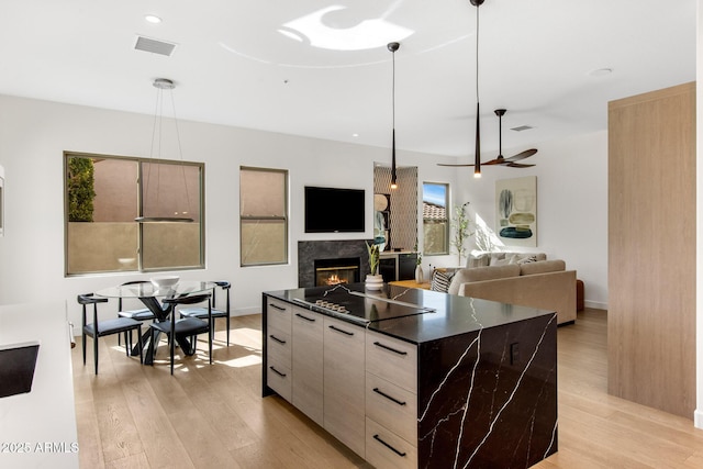
[[556, 313], [384, 286], [265, 292], [263, 393], [377, 468], [557, 450]]

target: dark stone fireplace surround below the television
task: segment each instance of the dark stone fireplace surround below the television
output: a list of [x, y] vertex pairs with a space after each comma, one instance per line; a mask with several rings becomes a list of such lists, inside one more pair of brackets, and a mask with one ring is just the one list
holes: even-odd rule
[[[315, 286], [315, 259], [344, 259], [358, 257], [361, 264], [361, 281], [369, 272], [369, 256], [366, 239], [299, 241], [298, 287]], [[369, 241], [370, 242], [370, 241]]]

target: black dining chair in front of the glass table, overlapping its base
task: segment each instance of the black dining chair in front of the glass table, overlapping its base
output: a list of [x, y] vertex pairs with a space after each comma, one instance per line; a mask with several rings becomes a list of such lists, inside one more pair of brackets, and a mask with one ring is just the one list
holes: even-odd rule
[[[200, 334], [208, 334], [208, 356], [210, 358], [210, 365], [212, 365], [212, 333], [213, 319], [212, 306], [210, 304], [210, 298], [212, 293], [193, 294], [190, 297], [178, 298], [165, 298], [164, 305], [172, 308], [171, 316], [167, 321], [152, 323], [152, 344], [156, 344], [156, 333], [160, 332], [168, 336], [169, 356], [171, 361], [171, 375], [174, 375], [174, 356], [176, 355], [176, 340], [178, 337], [196, 337]], [[207, 320], [199, 320], [198, 317], [183, 317], [176, 320], [176, 306], [180, 304], [198, 304], [208, 302]], [[196, 350], [196, 340], [190, 344], [191, 350]], [[181, 347], [182, 348], [182, 347]], [[187, 350], [183, 350], [187, 353]], [[156, 345], [154, 346], [154, 354], [156, 354]], [[152, 360], [154, 365], [154, 360]]]

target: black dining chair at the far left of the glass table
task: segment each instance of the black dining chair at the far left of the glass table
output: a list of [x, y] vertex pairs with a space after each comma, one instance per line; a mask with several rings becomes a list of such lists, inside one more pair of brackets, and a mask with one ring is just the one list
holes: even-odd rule
[[[132, 348], [132, 331], [137, 331], [140, 337], [140, 362], [144, 362], [142, 349], [142, 323], [130, 317], [118, 317], [116, 320], [99, 321], [98, 303], [107, 303], [107, 298], [93, 297], [92, 293], [79, 294], [78, 303], [82, 305], [82, 345], [83, 366], [86, 365], [86, 336], [92, 337], [93, 359], [96, 361], [96, 375], [98, 375], [98, 338], [112, 334], [124, 333], [124, 346], [127, 357]], [[92, 323], [87, 322], [87, 305], [92, 304]], [[129, 333], [129, 336], [127, 336]]]

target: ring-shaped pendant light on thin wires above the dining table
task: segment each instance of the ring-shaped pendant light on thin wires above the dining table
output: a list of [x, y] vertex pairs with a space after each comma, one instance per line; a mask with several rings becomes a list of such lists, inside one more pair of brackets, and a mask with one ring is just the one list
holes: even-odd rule
[[[176, 127], [176, 138], [177, 138], [177, 143], [178, 143], [178, 155], [180, 157], [180, 159], [183, 159], [183, 154], [182, 154], [182, 149], [180, 147], [180, 135], [178, 133], [178, 120], [176, 119], [176, 104], [174, 102], [174, 93], [171, 92], [174, 90], [174, 88], [176, 88], [176, 83], [174, 83], [172, 80], [169, 80], [167, 78], [157, 78], [154, 80], [154, 88], [157, 89], [156, 92], [156, 109], [154, 111], [154, 126], [152, 129], [152, 146], [149, 149], [149, 160], [148, 160], [148, 171], [147, 175], [144, 176], [142, 175], [142, 212], [144, 216], [137, 216], [136, 219], [134, 219], [135, 222], [138, 223], [155, 223], [155, 222], [193, 222], [194, 220], [190, 216], [188, 216], [189, 214], [189, 210], [190, 210], [190, 197], [188, 194], [188, 186], [187, 186], [187, 181], [186, 181], [186, 167], [183, 165], [181, 165], [180, 169], [181, 169], [181, 174], [183, 177], [183, 181], [182, 181], [182, 192], [186, 196], [186, 206], [181, 209], [180, 212], [175, 212], [174, 215], [168, 215], [165, 216], [164, 214], [159, 213], [159, 205], [160, 205], [160, 196], [161, 196], [161, 191], [160, 191], [160, 169], [158, 168], [158, 163], [155, 163], [154, 160], [154, 146], [155, 143], [158, 142], [158, 150], [157, 150], [157, 156], [158, 159], [160, 159], [160, 153], [161, 153], [161, 123], [163, 123], [163, 104], [164, 104], [164, 91], [169, 91], [170, 94], [170, 100], [171, 100], [171, 108], [174, 110], [174, 123], [175, 123], [175, 127]], [[158, 137], [158, 138], [157, 138]], [[155, 190], [155, 199], [156, 199], [156, 212], [153, 214], [145, 214], [144, 212], [146, 212], [146, 208], [144, 206], [144, 200], [149, 199], [149, 182], [152, 181], [152, 170], [154, 169], [154, 167], [157, 167], [156, 171], [157, 175], [155, 176], [156, 179], [156, 190]], [[150, 200], [150, 199], [149, 199]]]

